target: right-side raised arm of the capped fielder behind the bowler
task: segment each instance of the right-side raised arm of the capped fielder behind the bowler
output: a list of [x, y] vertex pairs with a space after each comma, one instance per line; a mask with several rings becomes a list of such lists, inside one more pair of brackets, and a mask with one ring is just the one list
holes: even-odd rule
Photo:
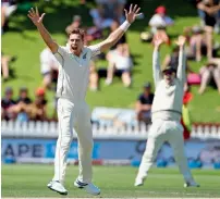
[[176, 77], [180, 79], [180, 82], [182, 84], [185, 83], [185, 75], [186, 75], [185, 74], [185, 71], [186, 71], [186, 66], [185, 66], [186, 65], [186, 57], [185, 57], [185, 52], [184, 52], [185, 41], [186, 41], [186, 38], [184, 36], [180, 36], [178, 38], [178, 40], [175, 41], [175, 43], [180, 48]]

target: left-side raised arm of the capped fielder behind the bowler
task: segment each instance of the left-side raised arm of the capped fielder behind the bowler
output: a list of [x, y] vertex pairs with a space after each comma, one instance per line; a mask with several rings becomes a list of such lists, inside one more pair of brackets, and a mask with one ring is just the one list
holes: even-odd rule
[[160, 58], [159, 58], [159, 49], [160, 45], [162, 43], [162, 39], [160, 37], [155, 37], [154, 45], [154, 53], [152, 53], [152, 77], [155, 82], [155, 86], [162, 79], [162, 74], [160, 70]]

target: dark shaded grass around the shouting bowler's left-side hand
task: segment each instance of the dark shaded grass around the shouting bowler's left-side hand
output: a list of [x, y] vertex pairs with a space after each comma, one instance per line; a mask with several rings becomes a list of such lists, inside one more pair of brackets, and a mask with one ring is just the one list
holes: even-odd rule
[[[65, 27], [72, 22], [73, 15], [81, 15], [83, 25], [90, 26], [91, 20], [89, 16], [89, 4], [80, 5], [78, 2], [71, 0], [54, 0], [49, 2], [34, 3], [37, 5], [40, 13], [46, 13], [44, 24], [51, 34], [65, 34]], [[36, 27], [27, 16], [27, 10], [17, 10], [14, 13], [9, 23], [10, 32], [23, 33], [24, 30], [35, 30]]]

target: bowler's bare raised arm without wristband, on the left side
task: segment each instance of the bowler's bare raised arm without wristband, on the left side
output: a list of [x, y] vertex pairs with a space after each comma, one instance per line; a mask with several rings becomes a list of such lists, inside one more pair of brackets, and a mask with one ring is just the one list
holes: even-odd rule
[[49, 32], [46, 29], [46, 27], [42, 24], [42, 18], [45, 16], [45, 13], [39, 15], [38, 9], [34, 10], [33, 8], [28, 11], [27, 16], [32, 20], [32, 22], [37, 27], [38, 32], [40, 33], [41, 38], [44, 39], [45, 43], [49, 47], [49, 49], [52, 51], [52, 53], [56, 53], [58, 51], [58, 43], [52, 40]]

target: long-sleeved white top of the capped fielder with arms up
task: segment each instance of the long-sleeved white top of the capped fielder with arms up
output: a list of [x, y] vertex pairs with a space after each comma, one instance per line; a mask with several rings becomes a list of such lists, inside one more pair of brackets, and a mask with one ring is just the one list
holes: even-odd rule
[[162, 78], [159, 64], [159, 52], [154, 51], [155, 98], [151, 107], [152, 122], [156, 119], [180, 121], [183, 104], [183, 86], [185, 82], [185, 54], [180, 51], [176, 78], [167, 85]]

